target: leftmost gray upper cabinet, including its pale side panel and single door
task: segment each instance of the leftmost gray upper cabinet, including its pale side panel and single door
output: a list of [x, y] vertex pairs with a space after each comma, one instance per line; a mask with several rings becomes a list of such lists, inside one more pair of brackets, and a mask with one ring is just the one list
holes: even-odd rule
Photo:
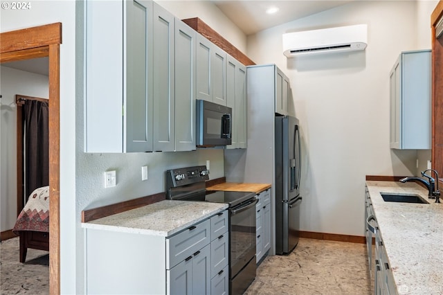
[[84, 15], [84, 150], [151, 151], [152, 1], [87, 1]]

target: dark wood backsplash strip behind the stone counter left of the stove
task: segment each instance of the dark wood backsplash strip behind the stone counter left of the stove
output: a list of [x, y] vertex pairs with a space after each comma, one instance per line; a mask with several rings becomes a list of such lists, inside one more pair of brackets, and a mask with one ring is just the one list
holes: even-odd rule
[[122, 213], [135, 208], [140, 208], [146, 205], [154, 204], [166, 199], [165, 193], [158, 193], [146, 197], [139, 197], [137, 199], [130, 199], [129, 201], [93, 208], [82, 211], [82, 222], [90, 222], [98, 220], [102, 217], [107, 217], [117, 213]]

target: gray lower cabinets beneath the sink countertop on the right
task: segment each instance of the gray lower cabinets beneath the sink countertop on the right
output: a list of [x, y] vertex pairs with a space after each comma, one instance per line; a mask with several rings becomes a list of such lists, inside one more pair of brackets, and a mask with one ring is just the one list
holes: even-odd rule
[[[394, 277], [390, 269], [388, 253], [384, 247], [383, 240], [374, 208], [370, 200], [368, 188], [365, 192], [365, 224], [366, 224], [366, 246], [368, 247], [368, 262], [371, 280], [374, 284], [375, 295], [398, 294]], [[372, 247], [372, 236], [375, 240], [375, 247]]]

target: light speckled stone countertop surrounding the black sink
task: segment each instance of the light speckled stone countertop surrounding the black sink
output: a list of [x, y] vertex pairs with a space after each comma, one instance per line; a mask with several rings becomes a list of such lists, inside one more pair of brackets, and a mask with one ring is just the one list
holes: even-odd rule
[[[366, 181], [399, 294], [443, 294], [443, 203], [418, 184]], [[380, 193], [413, 193], [430, 204], [383, 201]], [[442, 201], [443, 202], [443, 201]]]

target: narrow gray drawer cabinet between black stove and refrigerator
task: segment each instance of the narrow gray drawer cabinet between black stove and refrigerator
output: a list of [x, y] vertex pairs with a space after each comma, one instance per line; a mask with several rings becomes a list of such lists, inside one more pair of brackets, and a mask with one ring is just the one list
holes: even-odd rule
[[266, 252], [271, 249], [271, 190], [265, 190], [255, 196], [258, 199], [255, 205], [256, 215], [256, 261], [264, 258]]

